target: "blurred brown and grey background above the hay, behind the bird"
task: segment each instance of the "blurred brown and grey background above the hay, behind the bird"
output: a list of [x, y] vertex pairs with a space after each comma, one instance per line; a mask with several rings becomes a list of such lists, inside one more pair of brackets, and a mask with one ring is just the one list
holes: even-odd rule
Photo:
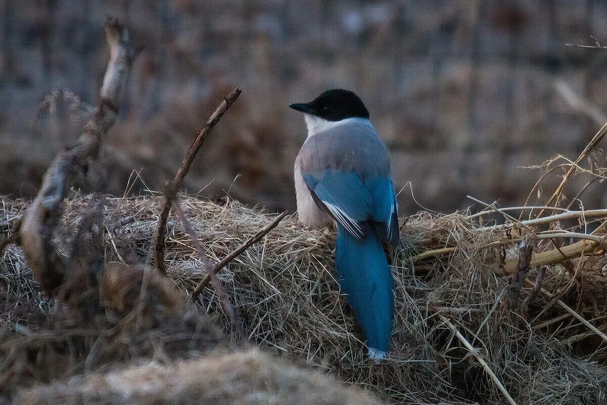
[[[142, 47], [107, 140], [118, 196], [171, 178], [235, 86], [186, 186], [270, 210], [295, 205], [305, 125], [287, 106], [328, 88], [367, 104], [403, 214], [463, 208], [466, 194], [523, 203], [542, 172], [521, 166], [575, 158], [606, 120], [607, 50], [566, 46], [607, 44], [605, 1], [2, 0], [0, 194], [33, 196], [80, 131], [72, 113], [97, 102], [108, 14]], [[589, 187], [586, 208], [604, 194]]]

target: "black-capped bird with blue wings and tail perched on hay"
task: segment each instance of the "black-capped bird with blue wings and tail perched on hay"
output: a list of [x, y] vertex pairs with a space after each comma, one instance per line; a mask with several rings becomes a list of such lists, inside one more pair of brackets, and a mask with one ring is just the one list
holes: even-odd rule
[[337, 224], [335, 266], [342, 293], [367, 339], [367, 356], [386, 357], [394, 282], [382, 243], [399, 244], [398, 204], [388, 150], [361, 98], [326, 90], [304, 113], [308, 137], [297, 154], [297, 216], [308, 227]]

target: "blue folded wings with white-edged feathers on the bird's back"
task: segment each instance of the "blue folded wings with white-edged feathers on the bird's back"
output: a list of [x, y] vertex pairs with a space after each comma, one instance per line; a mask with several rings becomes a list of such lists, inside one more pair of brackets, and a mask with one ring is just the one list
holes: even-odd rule
[[382, 239], [398, 243], [398, 208], [390, 177], [361, 179], [356, 172], [338, 170], [303, 177], [321, 208], [356, 239], [362, 239], [373, 226]]

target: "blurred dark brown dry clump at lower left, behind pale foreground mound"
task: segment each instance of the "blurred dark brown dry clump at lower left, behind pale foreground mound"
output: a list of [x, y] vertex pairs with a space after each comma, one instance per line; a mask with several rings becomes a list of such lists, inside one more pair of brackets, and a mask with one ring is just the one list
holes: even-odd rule
[[[21, 318], [22, 300], [5, 296], [0, 403], [20, 389], [78, 373], [149, 359], [170, 364], [230, 346], [213, 319], [167, 277], [141, 267], [109, 264], [98, 290], [79, 284], [62, 301], [66, 305], [46, 303], [47, 308], [36, 310], [30, 304], [30, 312]], [[18, 310], [10, 311], [11, 307]]]

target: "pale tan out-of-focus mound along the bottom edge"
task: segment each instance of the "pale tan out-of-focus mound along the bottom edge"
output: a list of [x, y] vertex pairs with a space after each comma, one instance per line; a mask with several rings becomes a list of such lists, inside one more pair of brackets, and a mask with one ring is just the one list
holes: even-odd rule
[[36, 387], [15, 404], [325, 404], [379, 405], [370, 395], [333, 378], [277, 361], [259, 350], [202, 359], [154, 362]]

